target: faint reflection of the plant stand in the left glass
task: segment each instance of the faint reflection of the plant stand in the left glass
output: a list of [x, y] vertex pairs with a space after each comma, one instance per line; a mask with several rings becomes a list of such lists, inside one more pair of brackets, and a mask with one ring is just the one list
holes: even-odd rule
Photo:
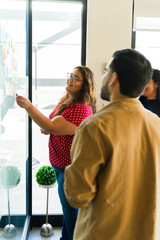
[[11, 224], [9, 188], [7, 188], [7, 197], [8, 197], [8, 224], [4, 227], [3, 234], [6, 238], [11, 238], [16, 236], [17, 230], [15, 226]]

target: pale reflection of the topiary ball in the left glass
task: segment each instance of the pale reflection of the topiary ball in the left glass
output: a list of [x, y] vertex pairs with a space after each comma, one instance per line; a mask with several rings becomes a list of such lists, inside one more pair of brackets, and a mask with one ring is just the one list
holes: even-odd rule
[[0, 171], [0, 185], [5, 188], [15, 187], [19, 184], [21, 172], [15, 166], [5, 166]]

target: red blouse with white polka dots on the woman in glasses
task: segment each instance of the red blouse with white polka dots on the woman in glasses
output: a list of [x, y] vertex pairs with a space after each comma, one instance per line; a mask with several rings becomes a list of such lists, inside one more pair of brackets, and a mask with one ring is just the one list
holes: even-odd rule
[[[49, 118], [52, 119], [57, 111], [59, 104], [55, 107]], [[62, 113], [67, 121], [76, 126], [87, 117], [93, 115], [90, 105], [82, 103], [74, 103], [69, 105]], [[50, 134], [49, 138], [49, 160], [50, 163], [59, 168], [65, 168], [71, 163], [70, 149], [74, 135], [54, 135]]]

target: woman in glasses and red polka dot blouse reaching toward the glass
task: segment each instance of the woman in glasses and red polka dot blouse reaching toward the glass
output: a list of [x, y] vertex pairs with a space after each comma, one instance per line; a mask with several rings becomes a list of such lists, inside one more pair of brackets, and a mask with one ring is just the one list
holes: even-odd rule
[[50, 134], [49, 160], [55, 169], [58, 194], [63, 211], [61, 240], [72, 240], [78, 209], [66, 200], [63, 184], [65, 168], [71, 164], [70, 149], [76, 129], [81, 122], [96, 111], [95, 83], [93, 72], [85, 66], [77, 66], [69, 73], [66, 95], [59, 101], [49, 118], [32, 103], [17, 96], [17, 104], [25, 108], [32, 120], [41, 128], [41, 133]]

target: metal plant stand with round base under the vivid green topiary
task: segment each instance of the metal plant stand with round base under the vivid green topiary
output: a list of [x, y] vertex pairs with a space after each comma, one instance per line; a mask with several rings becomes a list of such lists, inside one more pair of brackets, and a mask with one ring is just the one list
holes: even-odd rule
[[50, 237], [53, 234], [53, 227], [48, 223], [48, 202], [49, 202], [49, 189], [55, 187], [57, 183], [52, 185], [39, 185], [40, 187], [47, 188], [47, 204], [46, 204], [46, 223], [44, 223], [40, 230], [40, 235], [43, 237]]

